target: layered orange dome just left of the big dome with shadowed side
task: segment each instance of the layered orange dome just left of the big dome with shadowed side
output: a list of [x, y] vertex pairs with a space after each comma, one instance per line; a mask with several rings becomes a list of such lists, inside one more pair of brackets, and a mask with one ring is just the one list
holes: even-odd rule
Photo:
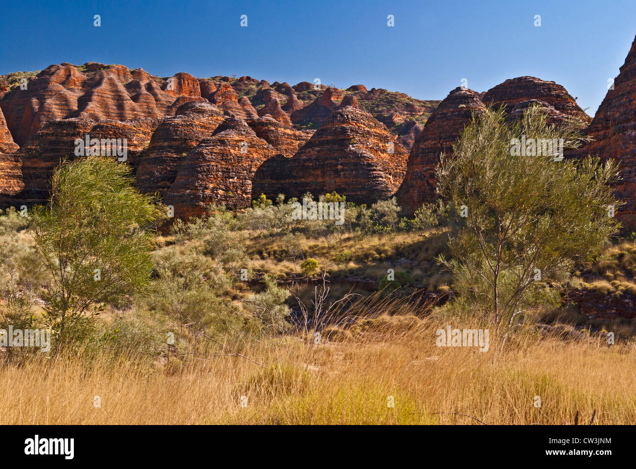
[[211, 203], [249, 207], [254, 173], [274, 153], [245, 121], [228, 118], [185, 157], [165, 203], [181, 219], [204, 214]]

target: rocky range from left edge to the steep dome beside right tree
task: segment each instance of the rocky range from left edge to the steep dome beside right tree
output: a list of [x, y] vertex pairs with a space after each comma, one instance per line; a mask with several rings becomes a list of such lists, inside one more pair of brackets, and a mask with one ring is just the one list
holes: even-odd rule
[[[174, 203], [179, 217], [200, 213], [211, 201], [245, 207], [261, 164], [268, 161], [265, 170], [297, 155], [326, 123], [331, 130], [293, 159], [298, 169], [289, 173], [286, 166], [294, 185], [284, 193], [333, 186], [361, 200], [388, 196], [437, 104], [363, 85], [340, 90], [187, 73], [161, 78], [95, 62], [16, 72], [0, 77], [0, 207], [45, 201], [53, 169], [76, 156], [76, 140], [86, 135], [126, 139], [139, 188]], [[349, 107], [354, 111], [339, 114], [336, 124], [334, 112]], [[309, 151], [317, 165], [305, 167]], [[347, 167], [343, 175], [338, 161]], [[331, 175], [321, 175], [323, 167]], [[287, 183], [277, 177], [276, 184]]]

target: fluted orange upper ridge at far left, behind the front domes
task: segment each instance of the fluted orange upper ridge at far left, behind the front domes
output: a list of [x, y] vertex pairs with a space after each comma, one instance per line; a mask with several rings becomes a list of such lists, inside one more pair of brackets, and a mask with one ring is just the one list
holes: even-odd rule
[[20, 146], [55, 120], [158, 119], [174, 114], [171, 105], [181, 96], [201, 99], [198, 81], [190, 74], [162, 79], [142, 69], [95, 62], [50, 65], [25, 85], [8, 90], [0, 100], [8, 129]]

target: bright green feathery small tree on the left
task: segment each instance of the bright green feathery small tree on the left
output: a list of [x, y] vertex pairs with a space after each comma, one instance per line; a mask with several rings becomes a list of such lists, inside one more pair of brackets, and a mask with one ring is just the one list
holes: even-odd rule
[[120, 302], [149, 280], [161, 212], [132, 186], [130, 167], [97, 156], [60, 165], [51, 199], [32, 210], [31, 233], [53, 281], [45, 321], [59, 345], [90, 331], [85, 312]]

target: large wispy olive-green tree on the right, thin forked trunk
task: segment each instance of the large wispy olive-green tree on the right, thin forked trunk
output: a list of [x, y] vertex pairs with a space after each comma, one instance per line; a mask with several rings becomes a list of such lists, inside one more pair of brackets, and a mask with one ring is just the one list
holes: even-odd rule
[[[530, 139], [534, 149], [514, 151]], [[439, 192], [454, 202], [462, 222], [449, 242], [453, 260], [441, 261], [463, 279], [460, 294], [481, 305], [486, 299], [494, 322], [507, 327], [546, 282], [593, 257], [620, 228], [611, 215], [622, 203], [609, 186], [618, 178], [616, 165], [544, 151], [536, 156], [537, 142], [546, 139], [565, 148], [585, 140], [574, 123], [548, 125], [536, 106], [511, 124], [503, 109], [489, 109], [438, 167]]]

